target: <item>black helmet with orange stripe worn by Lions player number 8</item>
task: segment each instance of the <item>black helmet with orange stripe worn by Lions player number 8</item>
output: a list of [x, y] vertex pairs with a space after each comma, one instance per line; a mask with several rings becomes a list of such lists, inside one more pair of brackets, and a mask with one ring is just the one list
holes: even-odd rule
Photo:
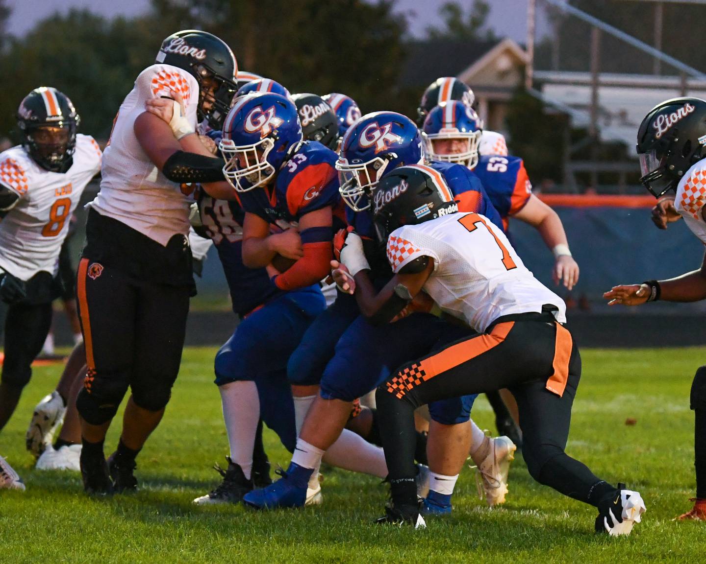
[[47, 171], [64, 173], [71, 168], [79, 122], [71, 100], [52, 87], [35, 88], [17, 109], [22, 145]]

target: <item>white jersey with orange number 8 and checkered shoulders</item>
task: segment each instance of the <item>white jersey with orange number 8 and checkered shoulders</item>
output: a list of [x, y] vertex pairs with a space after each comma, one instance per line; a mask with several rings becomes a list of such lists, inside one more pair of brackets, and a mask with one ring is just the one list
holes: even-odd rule
[[20, 197], [0, 221], [0, 269], [24, 281], [42, 270], [56, 274], [71, 214], [100, 159], [97, 142], [80, 133], [65, 173], [42, 168], [21, 145], [0, 154], [0, 183]]

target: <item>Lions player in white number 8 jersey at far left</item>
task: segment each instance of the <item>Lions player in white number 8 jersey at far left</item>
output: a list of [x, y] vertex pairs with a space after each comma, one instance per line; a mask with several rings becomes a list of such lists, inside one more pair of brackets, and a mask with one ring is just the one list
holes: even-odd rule
[[68, 220], [102, 156], [90, 135], [76, 133], [76, 109], [55, 88], [32, 90], [17, 119], [22, 145], [0, 154], [0, 298], [8, 304], [0, 429], [49, 332]]

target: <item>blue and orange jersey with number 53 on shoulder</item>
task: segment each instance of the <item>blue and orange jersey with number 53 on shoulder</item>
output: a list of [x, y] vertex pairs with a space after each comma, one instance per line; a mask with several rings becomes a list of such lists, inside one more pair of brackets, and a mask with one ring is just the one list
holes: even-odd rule
[[508, 226], [508, 216], [520, 211], [532, 195], [532, 184], [527, 176], [525, 164], [520, 157], [491, 157], [484, 155], [473, 169], [503, 219], [503, 228]]

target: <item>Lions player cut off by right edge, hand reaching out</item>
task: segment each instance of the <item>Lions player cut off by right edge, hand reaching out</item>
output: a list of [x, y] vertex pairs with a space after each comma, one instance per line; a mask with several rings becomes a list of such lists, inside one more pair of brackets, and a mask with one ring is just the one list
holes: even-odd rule
[[[654, 197], [666, 203], [661, 212], [653, 212], [655, 223], [666, 228], [666, 223], [683, 217], [688, 228], [706, 245], [705, 146], [706, 101], [699, 98], [674, 98], [654, 106], [638, 130], [640, 181]], [[657, 221], [660, 218], [664, 223]], [[704, 300], [706, 258], [701, 268], [693, 272], [671, 280], [614, 286], [604, 298], [610, 300], [609, 305]], [[695, 415], [696, 497], [691, 500], [695, 502], [693, 508], [677, 519], [706, 521], [706, 366], [696, 371], [690, 403]]]

